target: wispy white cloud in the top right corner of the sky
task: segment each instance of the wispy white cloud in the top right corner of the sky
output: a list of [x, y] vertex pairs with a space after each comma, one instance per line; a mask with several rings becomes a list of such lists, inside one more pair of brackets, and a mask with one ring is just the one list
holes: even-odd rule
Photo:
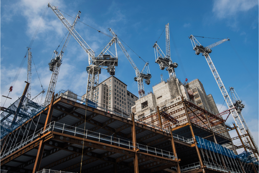
[[236, 16], [238, 12], [246, 12], [258, 5], [258, 0], [216, 0], [212, 12], [220, 18]]

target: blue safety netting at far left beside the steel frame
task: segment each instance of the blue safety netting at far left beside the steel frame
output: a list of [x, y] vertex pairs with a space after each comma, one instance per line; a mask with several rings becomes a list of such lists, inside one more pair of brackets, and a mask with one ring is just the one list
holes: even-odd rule
[[[20, 110], [16, 112], [19, 103], [20, 98], [0, 114], [1, 139], [44, 109], [43, 106], [25, 97]], [[17, 115], [14, 116], [15, 114]]]

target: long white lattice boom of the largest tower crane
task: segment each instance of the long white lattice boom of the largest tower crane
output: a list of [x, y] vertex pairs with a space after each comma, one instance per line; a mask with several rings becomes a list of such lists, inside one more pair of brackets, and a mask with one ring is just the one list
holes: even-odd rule
[[51, 10], [56, 14], [56, 16], [59, 18], [59, 20], [65, 25], [66, 29], [68, 29], [69, 33], [71, 33], [71, 35], [73, 35], [73, 37], [77, 40], [77, 42], [80, 44], [80, 46], [88, 54], [88, 62], [90, 65], [91, 60], [94, 59], [94, 51], [90, 48], [90, 46], [88, 46], [88, 44], [83, 40], [83, 38], [77, 33], [77, 31], [73, 28], [73, 26], [66, 20], [66, 18], [58, 10], [57, 7], [55, 7], [51, 3], [48, 3], [48, 7], [51, 8]]

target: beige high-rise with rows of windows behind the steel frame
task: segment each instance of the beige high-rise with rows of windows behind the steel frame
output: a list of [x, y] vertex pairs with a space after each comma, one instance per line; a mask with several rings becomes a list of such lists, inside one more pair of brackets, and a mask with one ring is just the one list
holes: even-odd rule
[[[102, 110], [108, 109], [115, 113], [125, 114], [129, 116], [132, 113], [132, 106], [138, 97], [127, 90], [127, 85], [116, 78], [110, 76], [106, 80], [99, 83], [96, 101], [98, 106], [103, 107]], [[82, 96], [82, 100], [85, 95]]]

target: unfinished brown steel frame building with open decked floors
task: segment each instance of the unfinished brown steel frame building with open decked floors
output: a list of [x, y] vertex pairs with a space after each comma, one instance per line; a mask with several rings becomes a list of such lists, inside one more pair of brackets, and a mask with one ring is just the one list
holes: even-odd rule
[[[19, 135], [10, 133], [1, 140], [1, 169], [26, 173], [43, 169], [106, 173], [258, 170], [254, 163], [242, 164], [198, 147], [197, 136], [214, 145], [229, 143], [235, 150], [229, 135], [213, 130], [221, 124], [220, 131], [228, 133], [233, 127], [188, 99], [181, 97], [172, 105], [157, 107], [151, 116], [157, 117], [158, 126], [135, 120], [134, 113], [121, 117], [53, 94], [46, 108], [15, 130], [27, 133], [25, 139], [13, 144]], [[173, 117], [175, 125], [163, 128], [161, 116]], [[177, 121], [182, 117], [186, 120]]]

